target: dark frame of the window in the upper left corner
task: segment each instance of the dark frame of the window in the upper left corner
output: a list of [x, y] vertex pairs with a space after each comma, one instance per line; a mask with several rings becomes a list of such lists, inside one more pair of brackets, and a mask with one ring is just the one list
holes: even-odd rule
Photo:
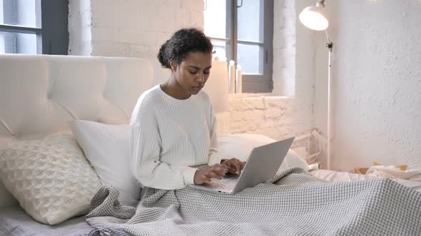
[[40, 1], [41, 4], [36, 6], [36, 11], [41, 14], [37, 14], [36, 22], [41, 19], [41, 27], [0, 23], [0, 32], [35, 34], [36, 54], [68, 55], [69, 0]]

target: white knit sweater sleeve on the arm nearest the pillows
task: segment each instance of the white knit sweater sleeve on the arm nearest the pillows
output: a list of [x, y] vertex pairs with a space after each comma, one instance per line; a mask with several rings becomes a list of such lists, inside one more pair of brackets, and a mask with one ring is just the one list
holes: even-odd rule
[[160, 161], [161, 138], [151, 112], [139, 112], [129, 130], [131, 172], [142, 186], [179, 189], [194, 182], [196, 168]]

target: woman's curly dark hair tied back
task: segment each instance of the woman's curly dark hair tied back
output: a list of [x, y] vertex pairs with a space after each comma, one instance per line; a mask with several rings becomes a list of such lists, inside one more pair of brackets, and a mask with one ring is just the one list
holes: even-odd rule
[[211, 53], [213, 45], [202, 31], [197, 28], [182, 28], [166, 41], [157, 55], [163, 68], [171, 69], [171, 60], [178, 65], [187, 58], [188, 53]]

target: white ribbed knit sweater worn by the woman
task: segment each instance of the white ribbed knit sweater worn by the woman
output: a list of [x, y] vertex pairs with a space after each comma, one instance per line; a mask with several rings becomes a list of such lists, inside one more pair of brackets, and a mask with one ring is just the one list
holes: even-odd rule
[[130, 122], [131, 171], [142, 186], [178, 189], [193, 183], [196, 166], [220, 163], [216, 120], [206, 92], [177, 100], [160, 85], [139, 97]]

